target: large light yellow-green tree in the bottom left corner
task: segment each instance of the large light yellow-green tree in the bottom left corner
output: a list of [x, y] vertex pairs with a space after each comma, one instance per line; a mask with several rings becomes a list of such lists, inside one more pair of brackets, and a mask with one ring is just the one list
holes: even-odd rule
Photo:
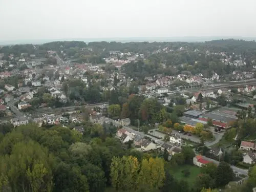
[[[31, 158], [33, 157], [33, 158]], [[1, 157], [0, 171], [14, 191], [52, 191], [54, 158], [48, 150], [29, 140], [13, 145], [12, 154]], [[1, 181], [0, 181], [1, 183]]]

